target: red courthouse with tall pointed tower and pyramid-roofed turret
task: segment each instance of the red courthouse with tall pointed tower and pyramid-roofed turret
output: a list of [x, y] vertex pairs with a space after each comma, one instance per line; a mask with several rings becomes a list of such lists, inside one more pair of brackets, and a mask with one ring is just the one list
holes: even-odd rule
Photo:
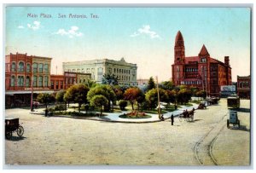
[[172, 64], [172, 82], [175, 85], [189, 85], [207, 90], [207, 95], [219, 95], [220, 86], [230, 85], [231, 67], [229, 56], [224, 62], [213, 59], [205, 45], [197, 56], [185, 56], [183, 35], [177, 32]]

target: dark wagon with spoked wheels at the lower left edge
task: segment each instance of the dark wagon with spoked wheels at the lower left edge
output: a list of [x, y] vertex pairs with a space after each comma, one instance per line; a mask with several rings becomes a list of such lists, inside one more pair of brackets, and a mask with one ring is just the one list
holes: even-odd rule
[[14, 131], [20, 137], [24, 134], [24, 129], [19, 124], [19, 118], [5, 118], [5, 137], [11, 139]]

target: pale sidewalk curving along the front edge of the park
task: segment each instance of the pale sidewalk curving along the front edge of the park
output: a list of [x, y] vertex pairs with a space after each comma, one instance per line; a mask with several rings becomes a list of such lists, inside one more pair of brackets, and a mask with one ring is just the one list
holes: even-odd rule
[[[193, 106], [191, 107], [185, 107], [182, 106], [181, 108], [177, 109], [176, 111], [173, 112], [166, 112], [164, 114], [164, 118], [168, 119], [171, 118], [172, 114], [174, 117], [177, 117], [178, 115], [180, 115], [181, 113], [183, 113], [183, 110], [192, 110], [193, 108], [197, 109], [198, 105], [195, 103], [192, 103]], [[39, 114], [39, 115], [44, 115], [44, 109], [45, 108], [38, 108], [36, 109], [34, 112], [31, 112], [32, 114]], [[83, 113], [85, 113], [84, 111], [81, 111]], [[115, 123], [154, 123], [154, 122], [160, 122], [160, 119], [158, 117], [158, 114], [151, 114], [148, 113], [148, 115], [151, 116], [151, 118], [119, 118], [120, 115], [123, 115], [124, 113], [127, 113], [127, 111], [124, 112], [118, 112], [118, 113], [106, 113], [104, 112], [104, 114], [107, 114], [105, 116], [99, 116], [99, 117], [88, 117], [88, 118], [84, 118], [84, 117], [75, 117], [75, 116], [67, 116], [67, 115], [56, 115], [54, 117], [65, 117], [65, 118], [81, 118], [81, 119], [90, 119], [90, 120], [96, 120], [96, 121], [107, 121], [107, 122], [115, 122]]]

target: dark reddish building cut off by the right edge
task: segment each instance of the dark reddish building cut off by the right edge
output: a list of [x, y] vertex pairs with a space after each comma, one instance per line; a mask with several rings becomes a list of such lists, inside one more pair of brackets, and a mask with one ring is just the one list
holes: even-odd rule
[[237, 76], [237, 95], [241, 98], [251, 98], [251, 76]]

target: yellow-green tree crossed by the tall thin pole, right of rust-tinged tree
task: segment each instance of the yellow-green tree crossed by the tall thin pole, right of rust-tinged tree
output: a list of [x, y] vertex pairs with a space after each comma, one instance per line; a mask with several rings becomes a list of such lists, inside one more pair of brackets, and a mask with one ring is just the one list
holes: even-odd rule
[[[157, 89], [150, 89], [146, 93], [146, 101], [148, 101], [149, 108], [155, 108], [158, 105], [158, 95], [157, 95]], [[166, 90], [160, 89], [160, 101], [167, 102], [168, 101], [168, 95]]]

